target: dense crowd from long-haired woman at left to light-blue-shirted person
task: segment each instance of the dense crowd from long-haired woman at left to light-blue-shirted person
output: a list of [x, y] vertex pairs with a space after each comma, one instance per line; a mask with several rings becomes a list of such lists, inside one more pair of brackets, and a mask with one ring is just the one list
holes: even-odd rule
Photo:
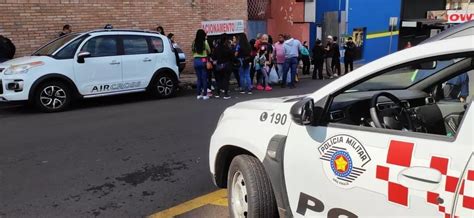
[[273, 84], [295, 88], [300, 55], [306, 54], [309, 59], [307, 46], [290, 35], [279, 35], [275, 44], [267, 34], [259, 34], [252, 40], [248, 40], [245, 33], [233, 36], [223, 34], [219, 39], [210, 41], [202, 29], [196, 33], [192, 52], [197, 75], [197, 99], [204, 100], [211, 96], [220, 98], [221, 95], [229, 99], [232, 74], [239, 85], [237, 91], [242, 94], [252, 94], [253, 89], [271, 91]]

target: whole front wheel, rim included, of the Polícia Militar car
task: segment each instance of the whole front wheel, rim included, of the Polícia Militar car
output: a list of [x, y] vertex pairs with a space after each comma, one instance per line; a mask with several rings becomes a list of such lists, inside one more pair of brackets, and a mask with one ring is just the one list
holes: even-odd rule
[[257, 158], [235, 157], [227, 178], [231, 217], [278, 217], [270, 180]]

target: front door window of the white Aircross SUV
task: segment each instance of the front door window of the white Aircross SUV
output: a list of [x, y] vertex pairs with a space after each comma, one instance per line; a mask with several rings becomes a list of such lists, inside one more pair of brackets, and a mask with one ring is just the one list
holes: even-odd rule
[[91, 53], [91, 57], [117, 55], [117, 40], [114, 36], [99, 36], [90, 39], [81, 51]]

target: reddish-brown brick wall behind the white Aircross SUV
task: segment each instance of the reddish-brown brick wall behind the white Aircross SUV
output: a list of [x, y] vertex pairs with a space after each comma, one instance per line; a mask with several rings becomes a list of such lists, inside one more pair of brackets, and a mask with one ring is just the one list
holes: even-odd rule
[[0, 11], [0, 34], [14, 42], [17, 57], [53, 40], [65, 24], [73, 32], [106, 24], [143, 30], [163, 26], [190, 57], [203, 21], [247, 20], [247, 2], [242, 0], [0, 0]]

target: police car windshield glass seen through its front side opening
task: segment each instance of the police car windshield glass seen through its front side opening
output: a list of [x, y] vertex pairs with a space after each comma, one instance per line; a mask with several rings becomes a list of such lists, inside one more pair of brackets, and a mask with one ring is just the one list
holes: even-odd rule
[[442, 71], [458, 60], [440, 60], [400, 67], [368, 79], [346, 92], [402, 90]]

